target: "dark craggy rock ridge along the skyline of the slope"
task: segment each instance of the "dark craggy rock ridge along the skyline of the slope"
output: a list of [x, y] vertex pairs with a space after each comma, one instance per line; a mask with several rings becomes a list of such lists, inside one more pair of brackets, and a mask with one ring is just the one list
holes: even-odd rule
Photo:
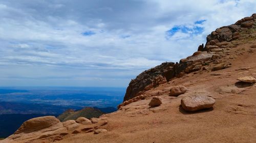
[[[126, 89], [124, 102], [120, 106], [133, 102], [133, 98], [173, 78], [179, 78], [200, 70], [217, 71], [231, 67], [231, 63], [220, 59], [230, 58], [227, 57], [229, 55], [228, 50], [239, 44], [239, 42], [232, 43], [231, 41], [248, 39], [248, 36], [249, 38], [256, 38], [254, 32], [248, 34], [250, 30], [256, 30], [256, 14], [238, 20], [235, 24], [217, 28], [216, 31], [207, 36], [206, 45], [200, 45], [198, 51], [193, 55], [181, 59], [179, 63], [163, 63], [132, 79]], [[127, 102], [125, 103], [125, 101]]]

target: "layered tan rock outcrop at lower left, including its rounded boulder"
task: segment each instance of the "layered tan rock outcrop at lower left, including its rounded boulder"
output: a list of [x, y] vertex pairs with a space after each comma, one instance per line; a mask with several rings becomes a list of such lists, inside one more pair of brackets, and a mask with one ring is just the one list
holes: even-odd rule
[[106, 117], [92, 118], [91, 120], [79, 117], [76, 120], [68, 120], [63, 123], [54, 116], [38, 117], [24, 122], [5, 141], [14, 140], [18, 142], [19, 140], [27, 140], [27, 142], [32, 142], [32, 140], [37, 140], [37, 142], [40, 142], [40, 139], [47, 139], [50, 142], [54, 142], [72, 134], [108, 132], [103, 128], [106, 124], [108, 124]]

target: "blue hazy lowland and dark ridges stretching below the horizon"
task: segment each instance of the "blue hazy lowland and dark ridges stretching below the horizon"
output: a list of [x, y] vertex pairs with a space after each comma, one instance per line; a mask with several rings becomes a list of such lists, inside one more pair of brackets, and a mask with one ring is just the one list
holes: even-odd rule
[[125, 88], [1, 87], [0, 137], [11, 135], [26, 120], [57, 117], [67, 109], [95, 107], [113, 112], [124, 94]]

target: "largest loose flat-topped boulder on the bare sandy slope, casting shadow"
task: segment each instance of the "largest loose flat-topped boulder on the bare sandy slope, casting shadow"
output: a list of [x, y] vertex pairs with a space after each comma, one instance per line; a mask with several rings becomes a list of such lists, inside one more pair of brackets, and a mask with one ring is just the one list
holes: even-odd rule
[[204, 95], [187, 96], [181, 99], [181, 106], [186, 111], [198, 111], [211, 108], [215, 104], [215, 99]]

